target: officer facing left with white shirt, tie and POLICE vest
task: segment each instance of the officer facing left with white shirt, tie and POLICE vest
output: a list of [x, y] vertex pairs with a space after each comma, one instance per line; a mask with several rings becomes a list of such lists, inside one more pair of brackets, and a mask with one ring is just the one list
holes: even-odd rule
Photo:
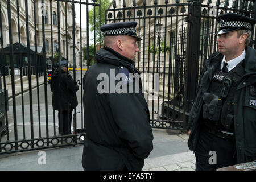
[[256, 159], [256, 51], [248, 46], [256, 20], [227, 13], [217, 22], [218, 52], [205, 60], [189, 117], [196, 170]]

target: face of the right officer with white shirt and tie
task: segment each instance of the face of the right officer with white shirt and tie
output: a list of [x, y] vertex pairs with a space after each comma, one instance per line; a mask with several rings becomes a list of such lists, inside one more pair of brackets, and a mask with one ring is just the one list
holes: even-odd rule
[[237, 37], [237, 31], [218, 35], [218, 50], [225, 56], [237, 54], [240, 46], [240, 38]]

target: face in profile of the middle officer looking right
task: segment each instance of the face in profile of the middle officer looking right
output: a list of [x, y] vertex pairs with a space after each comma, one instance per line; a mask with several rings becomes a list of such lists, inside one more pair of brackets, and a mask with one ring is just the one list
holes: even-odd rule
[[136, 38], [126, 35], [122, 40], [122, 55], [133, 60], [136, 56], [136, 52], [139, 52], [139, 48], [136, 44]]

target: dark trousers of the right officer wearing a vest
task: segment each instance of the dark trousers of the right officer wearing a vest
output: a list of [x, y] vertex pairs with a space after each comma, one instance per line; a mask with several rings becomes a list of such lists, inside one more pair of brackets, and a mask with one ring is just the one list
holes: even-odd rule
[[234, 141], [217, 137], [204, 129], [200, 130], [195, 156], [196, 171], [215, 171], [217, 168], [237, 164]]

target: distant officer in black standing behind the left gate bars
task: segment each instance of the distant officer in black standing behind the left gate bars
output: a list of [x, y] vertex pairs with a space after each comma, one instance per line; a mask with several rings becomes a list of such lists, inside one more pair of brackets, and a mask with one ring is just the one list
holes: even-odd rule
[[61, 60], [61, 69], [56, 68], [52, 81], [52, 107], [58, 110], [59, 134], [71, 134], [72, 111], [78, 105], [76, 91], [79, 86], [68, 73], [67, 60]]

